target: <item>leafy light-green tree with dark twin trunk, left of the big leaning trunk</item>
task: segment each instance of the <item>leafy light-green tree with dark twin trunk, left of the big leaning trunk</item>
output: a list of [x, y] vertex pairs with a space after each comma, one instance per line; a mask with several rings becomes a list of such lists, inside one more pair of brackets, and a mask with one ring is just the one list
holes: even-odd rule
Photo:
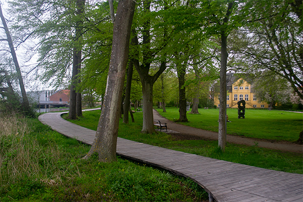
[[[104, 8], [108, 8], [108, 4], [89, 5], [85, 4], [84, 0], [51, 2], [16, 0], [11, 2], [11, 8], [12, 13], [16, 15], [17, 22], [14, 27], [20, 33], [20, 38], [39, 40], [34, 47], [34, 51], [39, 52], [39, 60], [32, 71], [36, 70], [39, 79], [56, 88], [66, 88], [70, 84], [72, 89], [70, 118], [75, 118], [76, 114], [81, 116], [80, 91], [87, 86], [79, 84], [83, 75], [79, 74], [81, 63], [85, 58], [90, 61], [96, 59], [94, 51], [97, 46], [104, 47], [102, 44], [104, 41], [107, 43], [107, 52], [104, 52], [106, 48], [102, 49], [103, 57], [110, 55], [112, 36], [108, 37], [107, 33], [112, 33], [112, 25], [105, 28], [105, 25], [109, 25], [108, 15], [105, 17], [102, 14], [105, 13]], [[100, 33], [106, 33], [104, 34], [106, 40], [98, 38]], [[101, 53], [100, 48], [98, 51]], [[108, 65], [108, 61], [109, 59], [104, 63]], [[98, 62], [97, 65], [93, 65], [94, 73], [99, 72], [96, 70], [99, 66], [104, 67], [104, 64]]]

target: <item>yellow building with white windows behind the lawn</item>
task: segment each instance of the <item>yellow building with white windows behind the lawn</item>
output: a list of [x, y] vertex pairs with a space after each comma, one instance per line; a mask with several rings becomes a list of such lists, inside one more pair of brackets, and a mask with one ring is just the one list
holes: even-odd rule
[[[240, 100], [245, 100], [245, 108], [269, 108], [266, 102], [260, 102], [254, 93], [251, 92], [251, 84], [242, 78], [235, 76], [233, 73], [226, 75], [227, 80], [227, 97], [226, 107], [238, 108], [237, 103]], [[214, 99], [214, 105], [220, 107], [220, 94]]]

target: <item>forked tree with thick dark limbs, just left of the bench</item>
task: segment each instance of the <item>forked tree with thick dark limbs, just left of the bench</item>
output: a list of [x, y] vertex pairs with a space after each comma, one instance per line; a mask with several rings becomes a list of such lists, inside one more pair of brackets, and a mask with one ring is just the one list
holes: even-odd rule
[[[150, 19], [150, 1], [143, 1], [143, 15], [145, 17], [143, 18], [143, 26], [141, 33], [137, 32], [136, 35], [134, 35], [134, 46], [133, 50], [134, 53], [132, 54], [132, 61], [134, 63], [134, 66], [139, 73], [141, 83], [142, 83], [142, 104], [143, 104], [143, 126], [142, 131], [143, 133], [153, 133], [155, 132], [154, 128], [154, 118], [153, 118], [153, 85], [156, 82], [156, 80], [159, 78], [159, 76], [163, 73], [163, 71], [166, 69], [166, 56], [165, 54], [161, 56], [160, 52], [163, 51], [165, 46], [167, 45], [167, 32], [164, 31], [161, 33], [161, 31], [151, 29], [151, 19]], [[167, 9], [167, 3], [166, 1], [163, 2], [163, 9]], [[159, 35], [162, 35], [162, 37], [157, 37], [157, 42], [154, 43], [155, 45], [158, 45], [157, 47], [151, 46], [151, 38], [152, 35], [151, 30], [153, 32], [158, 33]], [[160, 33], [159, 33], [160, 32]], [[139, 53], [139, 42], [138, 38], [140, 35], [142, 35], [142, 44], [141, 45], [141, 53]], [[158, 36], [159, 36], [158, 35]], [[162, 40], [162, 42], [160, 42]], [[142, 59], [140, 58], [142, 57]], [[157, 61], [157, 57], [158, 61]], [[141, 64], [140, 64], [140, 61]], [[149, 70], [151, 68], [151, 65], [155, 64], [155, 62], [159, 62], [159, 69], [154, 75], [149, 75]]]

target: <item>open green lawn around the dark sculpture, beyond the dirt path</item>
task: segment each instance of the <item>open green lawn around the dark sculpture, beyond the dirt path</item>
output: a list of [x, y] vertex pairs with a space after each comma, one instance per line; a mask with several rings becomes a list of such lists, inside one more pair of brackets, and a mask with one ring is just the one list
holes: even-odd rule
[[[156, 109], [161, 116], [173, 121], [179, 109]], [[199, 109], [200, 114], [188, 114], [187, 126], [218, 132], [219, 109]], [[277, 110], [245, 110], [245, 119], [238, 119], [237, 109], [227, 109], [227, 133], [258, 139], [296, 141], [303, 129], [303, 114]]]

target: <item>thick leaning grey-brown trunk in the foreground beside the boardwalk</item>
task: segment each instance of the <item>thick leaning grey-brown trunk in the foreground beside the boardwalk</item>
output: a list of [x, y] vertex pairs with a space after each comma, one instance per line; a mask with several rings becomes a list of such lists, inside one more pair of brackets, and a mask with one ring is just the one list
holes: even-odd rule
[[96, 136], [85, 158], [97, 153], [99, 161], [116, 161], [121, 98], [128, 61], [129, 37], [135, 2], [119, 1], [113, 32], [113, 48], [107, 79], [104, 105]]

